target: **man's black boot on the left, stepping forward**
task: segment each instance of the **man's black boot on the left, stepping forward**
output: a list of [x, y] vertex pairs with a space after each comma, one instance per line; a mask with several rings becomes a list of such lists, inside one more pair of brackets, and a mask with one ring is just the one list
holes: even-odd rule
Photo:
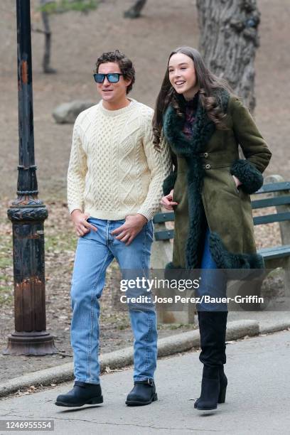
[[86, 382], [75, 381], [73, 390], [67, 394], [60, 394], [55, 404], [58, 407], [82, 407], [84, 404], [102, 403], [102, 390], [98, 384], [87, 384]]

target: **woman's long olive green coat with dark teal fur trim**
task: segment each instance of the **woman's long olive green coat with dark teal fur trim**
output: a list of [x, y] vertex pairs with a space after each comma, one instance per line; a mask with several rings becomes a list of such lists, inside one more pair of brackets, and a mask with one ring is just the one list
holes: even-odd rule
[[[169, 106], [163, 134], [171, 148], [174, 170], [164, 180], [163, 193], [174, 188], [173, 262], [167, 267], [198, 269], [206, 222], [210, 253], [220, 269], [260, 269], [249, 194], [263, 184], [262, 172], [271, 152], [247, 108], [235, 96], [219, 91], [227, 114], [226, 130], [218, 130], [198, 102], [193, 136], [183, 134], [184, 119]], [[183, 97], [179, 99], [184, 104]], [[245, 159], [239, 159], [240, 144]], [[236, 188], [232, 178], [242, 182]]]

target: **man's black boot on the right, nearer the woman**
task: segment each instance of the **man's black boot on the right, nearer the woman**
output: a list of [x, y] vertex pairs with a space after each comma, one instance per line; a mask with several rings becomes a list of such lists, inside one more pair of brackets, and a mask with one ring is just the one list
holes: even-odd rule
[[156, 387], [153, 380], [135, 381], [134, 388], [129, 392], [126, 404], [130, 407], [151, 404], [157, 400]]

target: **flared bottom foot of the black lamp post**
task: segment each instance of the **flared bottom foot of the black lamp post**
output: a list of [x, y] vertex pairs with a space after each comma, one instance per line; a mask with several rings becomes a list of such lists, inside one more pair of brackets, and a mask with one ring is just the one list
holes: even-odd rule
[[14, 332], [9, 335], [4, 355], [51, 355], [57, 353], [53, 335], [45, 331]]

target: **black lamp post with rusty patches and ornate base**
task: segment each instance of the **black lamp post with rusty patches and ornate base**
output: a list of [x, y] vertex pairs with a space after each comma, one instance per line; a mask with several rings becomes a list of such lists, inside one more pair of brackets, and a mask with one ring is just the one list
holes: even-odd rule
[[17, 199], [7, 211], [13, 227], [15, 332], [4, 354], [57, 352], [46, 332], [43, 222], [34, 162], [30, 0], [16, 0], [19, 165]]

